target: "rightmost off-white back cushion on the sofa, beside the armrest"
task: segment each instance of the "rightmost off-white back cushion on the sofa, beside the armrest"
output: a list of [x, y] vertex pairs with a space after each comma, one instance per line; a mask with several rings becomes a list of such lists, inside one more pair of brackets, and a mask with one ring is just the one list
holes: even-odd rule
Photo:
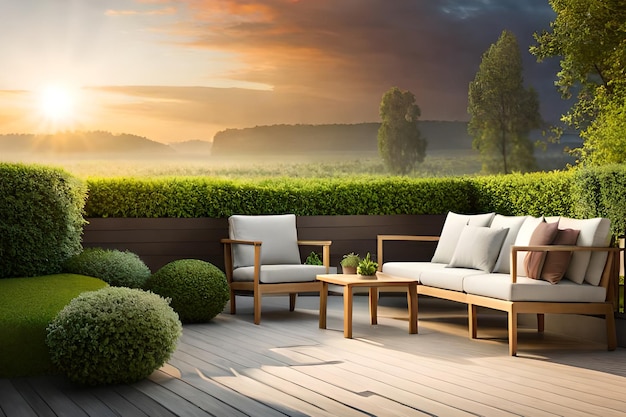
[[[559, 229], [580, 230], [576, 246], [608, 246], [611, 240], [611, 221], [600, 217], [594, 219], [561, 217]], [[598, 285], [606, 257], [606, 252], [574, 252], [565, 277], [577, 284], [587, 281], [591, 285]]]

